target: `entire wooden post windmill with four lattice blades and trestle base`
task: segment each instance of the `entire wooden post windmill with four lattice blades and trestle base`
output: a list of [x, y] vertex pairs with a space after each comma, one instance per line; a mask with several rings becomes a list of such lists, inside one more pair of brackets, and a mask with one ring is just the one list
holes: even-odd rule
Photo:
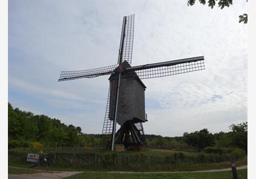
[[[205, 69], [204, 56], [132, 67], [134, 16], [124, 16], [123, 18], [118, 64], [97, 69], [63, 71], [58, 80], [66, 81], [110, 75], [102, 134], [111, 135], [111, 150], [114, 150], [115, 144], [124, 144], [127, 149], [146, 144], [142, 124], [148, 121], [144, 103], [146, 86], [141, 79]], [[116, 123], [121, 126], [117, 132]]]

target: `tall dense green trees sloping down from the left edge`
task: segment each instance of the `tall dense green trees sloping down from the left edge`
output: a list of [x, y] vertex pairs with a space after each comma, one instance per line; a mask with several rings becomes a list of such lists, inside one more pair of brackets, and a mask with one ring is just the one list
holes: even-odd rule
[[[29, 147], [29, 143], [44, 146], [74, 147], [78, 142], [80, 127], [66, 126], [60, 120], [49, 118], [46, 115], [34, 115], [18, 108], [13, 109], [8, 104], [8, 136], [9, 148]], [[34, 147], [33, 144], [30, 147]]]

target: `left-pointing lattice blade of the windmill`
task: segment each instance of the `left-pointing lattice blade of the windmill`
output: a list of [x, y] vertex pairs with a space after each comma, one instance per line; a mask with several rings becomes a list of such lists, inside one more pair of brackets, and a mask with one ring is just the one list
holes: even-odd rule
[[95, 78], [101, 75], [109, 75], [114, 73], [118, 65], [101, 67], [97, 69], [89, 69], [89, 70], [78, 70], [78, 71], [63, 71], [60, 73], [60, 78], [58, 81], [66, 81], [71, 79], [78, 78]]

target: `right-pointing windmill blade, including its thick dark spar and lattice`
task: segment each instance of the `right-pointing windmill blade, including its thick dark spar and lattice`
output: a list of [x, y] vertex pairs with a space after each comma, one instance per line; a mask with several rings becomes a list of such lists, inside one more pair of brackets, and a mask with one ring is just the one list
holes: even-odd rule
[[146, 79], [177, 75], [204, 69], [204, 56], [197, 56], [193, 58], [129, 67], [126, 71], [135, 71], [140, 79]]

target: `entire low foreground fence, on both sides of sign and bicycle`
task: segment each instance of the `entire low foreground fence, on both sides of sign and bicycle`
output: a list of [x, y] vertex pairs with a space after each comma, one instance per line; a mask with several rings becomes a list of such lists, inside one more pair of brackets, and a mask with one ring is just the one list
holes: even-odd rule
[[[17, 163], [26, 162], [27, 152], [18, 152], [9, 150], [9, 157]], [[243, 157], [243, 156], [241, 156]], [[241, 157], [236, 158], [237, 160]], [[152, 154], [122, 154], [122, 153], [107, 153], [98, 154], [67, 154], [57, 152], [54, 164], [68, 165], [68, 166], [97, 166], [97, 165], [111, 165], [124, 166], [130, 164], [180, 164], [180, 163], [219, 163], [222, 161], [230, 161], [231, 156], [228, 154], [204, 154], [192, 153], [185, 154], [183, 152], [174, 152], [170, 155], [152, 155]]]

